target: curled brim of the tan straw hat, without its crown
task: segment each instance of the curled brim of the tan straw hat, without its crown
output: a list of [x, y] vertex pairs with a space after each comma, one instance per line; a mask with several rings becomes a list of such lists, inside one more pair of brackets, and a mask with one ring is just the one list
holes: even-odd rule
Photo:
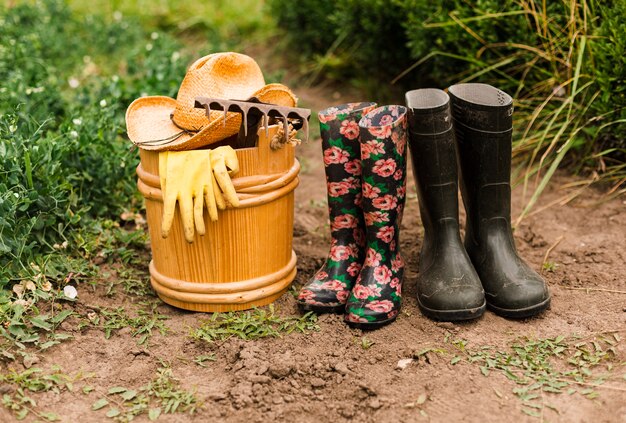
[[[282, 84], [268, 84], [255, 92], [263, 103], [295, 107], [296, 96]], [[126, 110], [126, 129], [130, 140], [150, 151], [193, 150], [211, 145], [239, 132], [241, 114], [211, 112], [209, 123], [198, 132], [187, 132], [174, 124], [171, 114], [176, 100], [165, 96], [141, 97]]]

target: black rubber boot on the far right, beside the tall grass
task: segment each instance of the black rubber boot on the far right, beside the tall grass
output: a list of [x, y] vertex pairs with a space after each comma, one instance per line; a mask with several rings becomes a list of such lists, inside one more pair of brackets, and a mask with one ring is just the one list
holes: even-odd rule
[[546, 283], [517, 254], [511, 232], [513, 99], [486, 84], [449, 88], [467, 212], [465, 248], [487, 307], [511, 318], [550, 305]]

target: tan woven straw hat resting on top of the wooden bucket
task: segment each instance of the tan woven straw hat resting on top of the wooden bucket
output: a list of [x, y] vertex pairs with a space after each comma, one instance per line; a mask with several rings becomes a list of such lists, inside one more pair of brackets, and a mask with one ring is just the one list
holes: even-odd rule
[[264, 103], [294, 107], [296, 96], [282, 84], [265, 84], [259, 65], [239, 53], [215, 53], [198, 59], [187, 70], [176, 100], [141, 97], [126, 110], [128, 137], [144, 150], [192, 150], [239, 132], [241, 114], [194, 107], [196, 97], [225, 100], [258, 98]]

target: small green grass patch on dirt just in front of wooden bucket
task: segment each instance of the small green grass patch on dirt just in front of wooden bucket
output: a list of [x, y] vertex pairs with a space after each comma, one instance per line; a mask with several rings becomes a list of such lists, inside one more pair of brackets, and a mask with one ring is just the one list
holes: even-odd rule
[[213, 313], [211, 319], [193, 328], [192, 339], [214, 343], [237, 337], [244, 340], [278, 338], [293, 332], [308, 333], [319, 330], [317, 316], [311, 312], [302, 316], [279, 316], [273, 305], [267, 310]]

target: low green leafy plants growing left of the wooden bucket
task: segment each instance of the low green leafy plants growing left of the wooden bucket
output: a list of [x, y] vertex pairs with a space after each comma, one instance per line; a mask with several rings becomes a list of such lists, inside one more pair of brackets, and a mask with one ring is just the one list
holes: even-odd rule
[[188, 62], [180, 49], [132, 18], [77, 15], [61, 0], [0, 4], [5, 358], [70, 339], [50, 320], [64, 285], [97, 280], [95, 262], [141, 257], [145, 233], [121, 217], [140, 204], [124, 110], [145, 93], [175, 95]]

